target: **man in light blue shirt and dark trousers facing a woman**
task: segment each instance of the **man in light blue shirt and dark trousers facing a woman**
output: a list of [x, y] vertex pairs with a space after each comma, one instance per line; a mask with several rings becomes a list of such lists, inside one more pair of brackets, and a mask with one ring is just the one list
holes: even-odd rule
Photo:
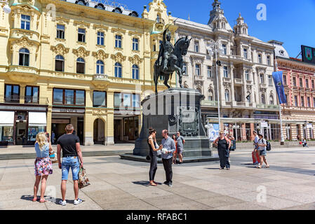
[[173, 187], [173, 170], [172, 170], [172, 163], [173, 163], [173, 153], [175, 152], [175, 142], [172, 138], [168, 136], [168, 130], [162, 131], [162, 146], [163, 149], [166, 149], [166, 153], [162, 153], [162, 162], [163, 167], [166, 174], [166, 181], [164, 182], [165, 185], [169, 187]]

